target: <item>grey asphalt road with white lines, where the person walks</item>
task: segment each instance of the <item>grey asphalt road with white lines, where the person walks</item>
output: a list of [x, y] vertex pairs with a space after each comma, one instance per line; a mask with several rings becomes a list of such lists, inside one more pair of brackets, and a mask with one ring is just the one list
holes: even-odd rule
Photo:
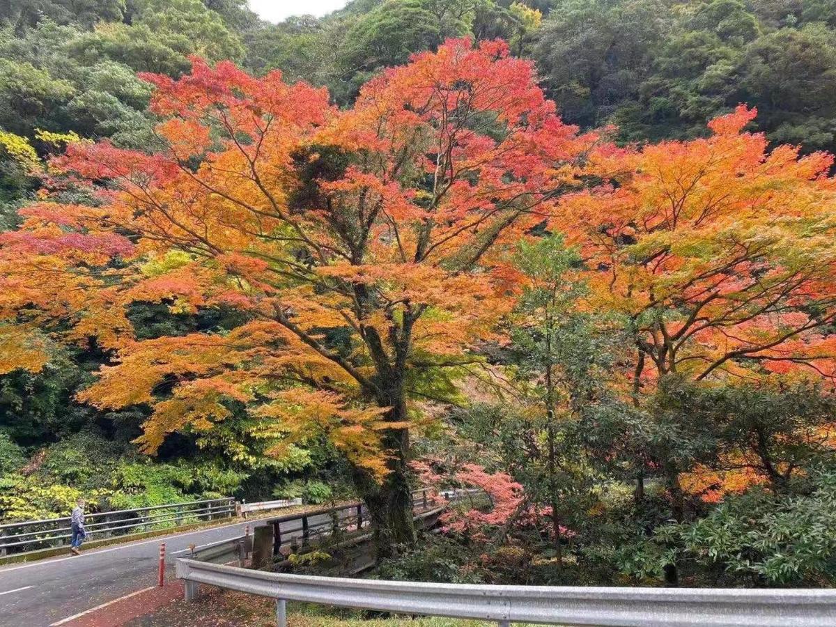
[[[327, 520], [324, 516], [311, 517], [310, 524]], [[174, 560], [186, 555], [190, 544], [201, 548], [238, 538], [247, 524], [252, 533], [252, 528], [263, 521], [172, 534], [116, 547], [94, 548], [79, 556], [0, 568], [0, 627], [48, 627], [86, 609], [153, 586], [157, 582], [161, 543], [166, 543], [166, 567], [173, 571]], [[283, 539], [301, 535], [301, 522], [282, 523], [281, 532]]]

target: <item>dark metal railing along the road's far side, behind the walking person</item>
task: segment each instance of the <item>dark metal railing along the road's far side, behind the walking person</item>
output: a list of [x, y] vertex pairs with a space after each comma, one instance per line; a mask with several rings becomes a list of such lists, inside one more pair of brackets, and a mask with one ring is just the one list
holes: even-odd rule
[[[150, 530], [181, 523], [210, 521], [234, 514], [235, 501], [232, 498], [213, 498], [86, 514], [84, 529], [88, 536], [110, 538], [140, 529]], [[24, 553], [38, 548], [61, 546], [65, 540], [69, 540], [71, 532], [69, 517], [3, 524], [0, 525], [0, 554]]]

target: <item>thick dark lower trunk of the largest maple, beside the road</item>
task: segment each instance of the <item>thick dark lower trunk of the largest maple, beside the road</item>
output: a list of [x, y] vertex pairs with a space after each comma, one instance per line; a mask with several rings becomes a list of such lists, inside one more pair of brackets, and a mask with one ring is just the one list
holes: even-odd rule
[[[405, 420], [405, 405], [397, 403], [390, 409], [386, 420], [402, 423]], [[395, 555], [399, 548], [415, 546], [412, 498], [406, 477], [409, 431], [385, 431], [383, 440], [390, 456], [387, 463], [389, 474], [380, 481], [362, 468], [354, 469], [354, 487], [369, 507], [378, 558]]]

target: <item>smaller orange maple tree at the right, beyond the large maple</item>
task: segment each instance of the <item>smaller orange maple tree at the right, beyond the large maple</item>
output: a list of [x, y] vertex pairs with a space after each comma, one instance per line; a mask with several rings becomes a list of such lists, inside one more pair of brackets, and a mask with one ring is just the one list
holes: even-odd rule
[[[604, 184], [555, 214], [584, 257], [588, 306], [618, 315], [630, 337], [622, 383], [636, 406], [670, 377], [716, 386], [836, 375], [833, 157], [768, 150], [744, 130], [755, 115], [740, 106], [711, 121], [706, 139], [593, 155]], [[742, 476], [762, 472], [746, 457], [726, 461]]]

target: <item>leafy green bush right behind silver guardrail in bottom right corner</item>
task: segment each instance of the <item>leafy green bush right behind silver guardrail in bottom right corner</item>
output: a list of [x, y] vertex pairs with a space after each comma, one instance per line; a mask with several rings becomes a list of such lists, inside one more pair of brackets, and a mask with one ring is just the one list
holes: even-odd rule
[[836, 581], [836, 473], [813, 472], [796, 492], [753, 487], [706, 517], [625, 538], [610, 558], [630, 578], [681, 577], [713, 585], [832, 586]]

